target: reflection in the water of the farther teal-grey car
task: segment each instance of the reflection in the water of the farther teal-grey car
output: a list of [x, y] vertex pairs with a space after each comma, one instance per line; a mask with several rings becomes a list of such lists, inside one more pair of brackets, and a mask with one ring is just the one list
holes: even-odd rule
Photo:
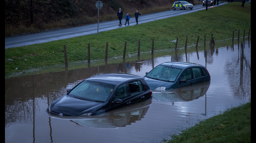
[[152, 90], [152, 96], [158, 101], [191, 101], [205, 95], [210, 83], [211, 81], [206, 81], [203, 83], [173, 88], [165, 91]]

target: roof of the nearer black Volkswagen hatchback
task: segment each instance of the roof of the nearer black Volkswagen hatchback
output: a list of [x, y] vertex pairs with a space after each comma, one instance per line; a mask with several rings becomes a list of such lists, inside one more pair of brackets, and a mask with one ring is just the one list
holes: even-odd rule
[[105, 84], [110, 84], [110, 85], [118, 85], [120, 83], [124, 83], [126, 81], [130, 80], [144, 80], [143, 77], [136, 76], [133, 74], [126, 74], [126, 73], [107, 73], [107, 74], [101, 74], [97, 75], [94, 77], [87, 78], [85, 80], [90, 80], [90, 81], [95, 81], [95, 82], [100, 82], [100, 83], [105, 83]]

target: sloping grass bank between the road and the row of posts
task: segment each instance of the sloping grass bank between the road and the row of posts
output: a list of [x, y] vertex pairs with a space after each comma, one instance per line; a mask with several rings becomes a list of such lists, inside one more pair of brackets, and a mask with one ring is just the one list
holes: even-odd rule
[[248, 33], [249, 28], [251, 28], [251, 5], [245, 4], [245, 7], [241, 7], [241, 3], [233, 2], [207, 11], [197, 11], [99, 34], [5, 49], [5, 76], [44, 66], [65, 66], [64, 44], [67, 47], [68, 63], [72, 63], [87, 61], [88, 43], [90, 43], [90, 59], [99, 60], [105, 58], [107, 42], [110, 58], [123, 56], [125, 41], [126, 55], [129, 55], [137, 53], [138, 40], [140, 40], [141, 52], [150, 52], [153, 38], [154, 50], [174, 49], [176, 43], [170, 41], [176, 40], [177, 37], [179, 38], [177, 48], [183, 48], [186, 36], [189, 46], [196, 44], [198, 35], [199, 42], [203, 42], [206, 34], [208, 43], [211, 33], [214, 40], [218, 41], [231, 39], [233, 31], [235, 37], [238, 35], [238, 30], [245, 29]]

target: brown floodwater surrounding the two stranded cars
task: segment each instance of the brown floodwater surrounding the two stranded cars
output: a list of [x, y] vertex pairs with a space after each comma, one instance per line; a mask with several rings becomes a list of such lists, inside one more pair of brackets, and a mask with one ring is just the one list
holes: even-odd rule
[[[206, 66], [211, 81], [154, 93], [152, 100], [89, 118], [49, 116], [48, 105], [83, 79], [123, 72], [144, 76], [155, 66], [180, 61]], [[71, 65], [71, 64], [69, 64]], [[146, 143], [170, 139], [227, 108], [251, 101], [251, 42], [248, 38], [201, 43], [185, 49], [75, 63], [5, 78], [5, 143], [117, 142]]]

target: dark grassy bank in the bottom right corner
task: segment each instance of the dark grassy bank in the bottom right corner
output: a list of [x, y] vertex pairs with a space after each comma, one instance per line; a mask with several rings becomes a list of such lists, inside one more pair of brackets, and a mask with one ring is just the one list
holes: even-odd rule
[[201, 121], [179, 135], [172, 135], [168, 143], [172, 142], [251, 142], [251, 102]]

